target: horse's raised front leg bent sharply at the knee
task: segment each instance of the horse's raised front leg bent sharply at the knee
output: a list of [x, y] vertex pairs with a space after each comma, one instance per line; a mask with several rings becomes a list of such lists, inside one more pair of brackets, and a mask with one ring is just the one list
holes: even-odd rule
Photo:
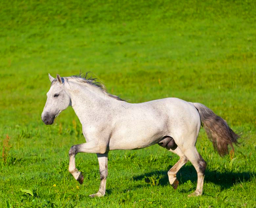
[[69, 172], [73, 175], [75, 180], [77, 180], [80, 184], [84, 182], [84, 177], [80, 171], [76, 169], [75, 166], [75, 155], [79, 152], [87, 152], [87, 153], [105, 153], [107, 150], [107, 145], [95, 142], [91, 140], [87, 143], [83, 143], [80, 145], [74, 145], [69, 150]]

